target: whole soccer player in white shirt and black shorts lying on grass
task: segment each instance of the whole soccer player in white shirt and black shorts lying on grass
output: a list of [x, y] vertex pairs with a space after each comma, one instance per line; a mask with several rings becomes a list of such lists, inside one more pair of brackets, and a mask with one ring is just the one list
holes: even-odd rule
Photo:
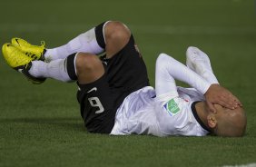
[[[245, 131], [241, 103], [218, 84], [206, 54], [188, 49], [189, 67], [161, 54], [154, 91], [133, 35], [120, 22], [105, 22], [54, 49], [13, 38], [3, 54], [33, 83], [77, 81], [81, 115], [91, 133], [241, 136]], [[195, 89], [176, 87], [174, 78]]]

